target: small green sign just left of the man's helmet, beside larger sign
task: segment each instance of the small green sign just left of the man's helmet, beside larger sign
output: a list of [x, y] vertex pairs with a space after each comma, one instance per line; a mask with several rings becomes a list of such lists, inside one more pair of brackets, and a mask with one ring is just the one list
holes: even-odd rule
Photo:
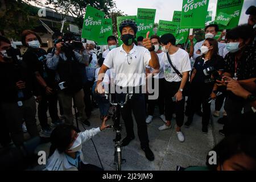
[[112, 29], [112, 18], [109, 19], [102, 19], [102, 26], [100, 29], [100, 37], [98, 39], [98, 45], [107, 45], [107, 39], [109, 36], [113, 35]]

